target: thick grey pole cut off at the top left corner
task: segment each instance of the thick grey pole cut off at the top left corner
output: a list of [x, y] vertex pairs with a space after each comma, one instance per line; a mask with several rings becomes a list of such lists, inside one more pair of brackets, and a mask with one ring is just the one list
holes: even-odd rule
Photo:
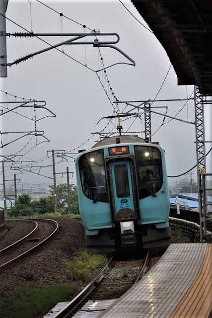
[[7, 77], [6, 59], [6, 9], [8, 0], [0, 0], [0, 77]]

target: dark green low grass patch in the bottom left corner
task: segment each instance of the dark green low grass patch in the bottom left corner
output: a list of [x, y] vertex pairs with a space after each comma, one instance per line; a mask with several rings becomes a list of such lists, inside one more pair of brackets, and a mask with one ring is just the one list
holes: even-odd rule
[[[7, 294], [3, 286], [11, 287]], [[3, 318], [37, 318], [46, 315], [58, 302], [69, 301], [75, 286], [47, 286], [35, 282], [4, 279], [0, 285], [0, 312]]]

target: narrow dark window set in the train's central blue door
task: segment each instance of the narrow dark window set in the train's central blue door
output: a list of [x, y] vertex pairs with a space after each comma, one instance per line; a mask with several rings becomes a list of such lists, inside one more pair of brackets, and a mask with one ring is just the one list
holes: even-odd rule
[[118, 198], [130, 196], [130, 185], [127, 164], [116, 164], [114, 166], [116, 180], [116, 195]]

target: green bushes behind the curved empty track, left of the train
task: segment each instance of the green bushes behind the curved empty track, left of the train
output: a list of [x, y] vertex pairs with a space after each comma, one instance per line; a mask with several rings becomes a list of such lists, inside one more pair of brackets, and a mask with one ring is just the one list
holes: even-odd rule
[[[50, 192], [53, 193], [54, 186], [50, 185]], [[70, 211], [68, 208], [68, 191], [67, 184], [59, 184], [57, 186], [57, 202], [58, 212], [60, 214], [79, 214], [77, 188], [74, 184], [70, 184]], [[40, 198], [39, 200], [32, 200], [28, 193], [19, 195], [15, 204], [7, 212], [8, 217], [30, 217], [35, 215], [46, 215], [54, 213], [54, 195], [51, 194], [48, 197]]]

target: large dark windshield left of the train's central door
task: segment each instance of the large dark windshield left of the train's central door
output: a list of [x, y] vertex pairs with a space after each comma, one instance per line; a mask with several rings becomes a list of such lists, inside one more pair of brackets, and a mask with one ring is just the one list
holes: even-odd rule
[[82, 155], [79, 171], [84, 195], [94, 202], [108, 202], [103, 150]]

